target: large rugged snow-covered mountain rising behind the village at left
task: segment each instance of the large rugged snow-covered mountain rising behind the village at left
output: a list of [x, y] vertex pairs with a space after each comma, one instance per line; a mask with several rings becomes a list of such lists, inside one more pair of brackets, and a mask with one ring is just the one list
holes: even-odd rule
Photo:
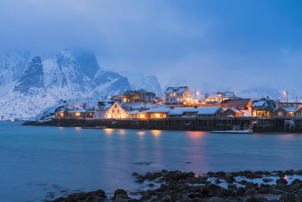
[[127, 77], [100, 69], [89, 52], [65, 49], [45, 61], [34, 57], [29, 62], [26, 56], [4, 56], [0, 55], [0, 78], [5, 80], [0, 86], [15, 84], [0, 94], [0, 116], [5, 118], [27, 119], [62, 99], [106, 98], [131, 88]]

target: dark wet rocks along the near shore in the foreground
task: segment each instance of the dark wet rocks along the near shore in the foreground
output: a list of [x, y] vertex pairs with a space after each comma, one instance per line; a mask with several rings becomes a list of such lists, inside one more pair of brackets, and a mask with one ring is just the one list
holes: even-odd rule
[[[147, 173], [136, 176], [137, 183], [145, 180], [149, 190], [137, 190], [127, 193], [123, 189], [117, 189], [111, 197], [106, 196], [102, 190], [91, 192], [73, 193], [67, 197], [59, 197], [53, 202], [133, 202], [133, 201], [201, 201], [201, 202], [262, 202], [262, 201], [302, 201], [302, 181], [294, 179], [290, 184], [284, 178], [293, 175], [302, 176], [302, 171], [274, 171], [272, 173], [263, 171], [243, 172], [208, 172], [204, 176], [195, 175], [193, 172], [166, 171]], [[240, 181], [240, 177], [244, 178]], [[274, 181], [271, 178], [277, 178]], [[263, 183], [251, 182], [253, 179], [261, 178]], [[272, 183], [274, 181], [274, 183]], [[160, 184], [156, 186], [155, 184]], [[219, 184], [227, 183], [227, 188]], [[270, 183], [270, 184], [268, 184]], [[237, 186], [238, 185], [238, 186]], [[139, 199], [130, 198], [128, 194], [137, 195]], [[50, 202], [50, 201], [47, 201]]]

